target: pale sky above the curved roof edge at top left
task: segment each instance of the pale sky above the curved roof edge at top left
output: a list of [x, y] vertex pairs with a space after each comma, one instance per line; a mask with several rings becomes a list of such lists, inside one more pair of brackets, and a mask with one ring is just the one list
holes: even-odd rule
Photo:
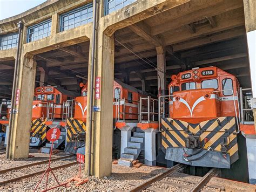
[[0, 0], [0, 20], [18, 15], [46, 0]]

